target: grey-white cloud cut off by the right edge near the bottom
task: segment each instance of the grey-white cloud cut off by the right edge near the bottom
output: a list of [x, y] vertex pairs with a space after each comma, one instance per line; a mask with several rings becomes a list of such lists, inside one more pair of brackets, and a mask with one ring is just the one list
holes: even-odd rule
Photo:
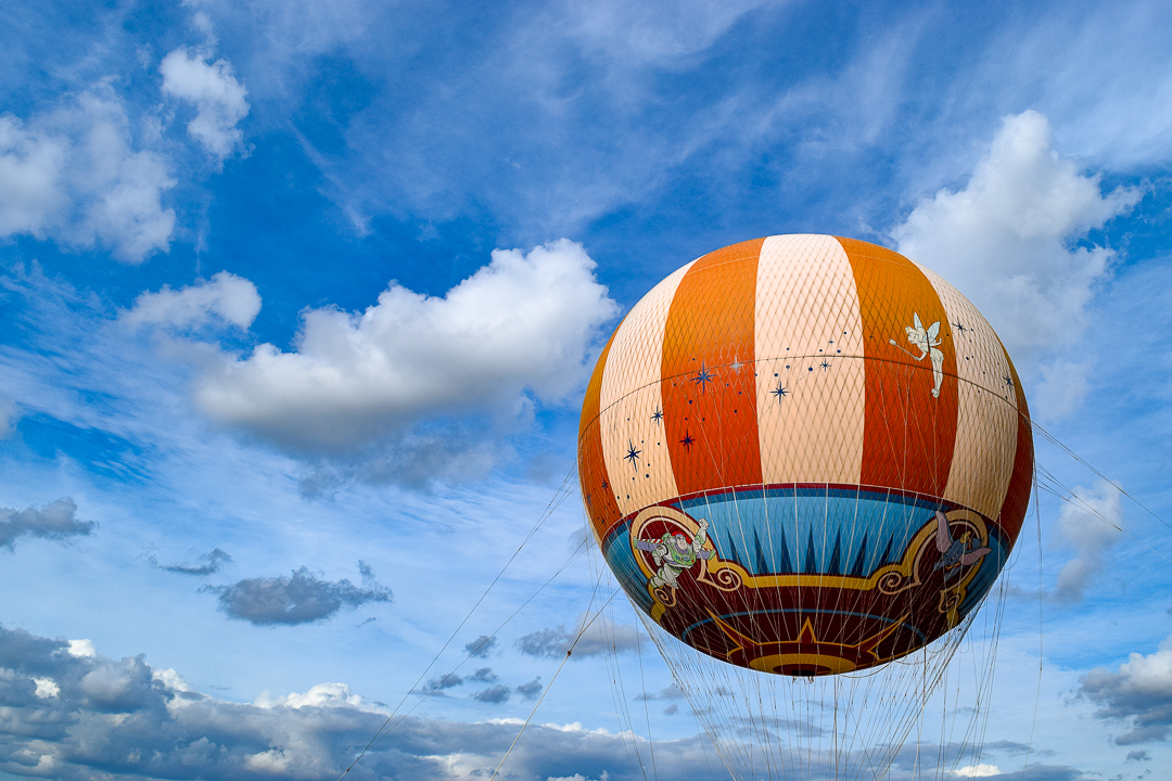
[[1172, 731], [1172, 637], [1144, 656], [1132, 653], [1116, 672], [1091, 670], [1078, 693], [1099, 705], [1095, 713], [1127, 725], [1120, 746], [1166, 740]]

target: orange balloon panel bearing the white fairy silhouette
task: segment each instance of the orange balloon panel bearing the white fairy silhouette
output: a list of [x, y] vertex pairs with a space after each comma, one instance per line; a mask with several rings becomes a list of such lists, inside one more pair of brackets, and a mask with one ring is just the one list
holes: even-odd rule
[[[854, 272], [866, 358], [864, 485], [942, 496], [956, 440], [956, 351], [940, 296], [927, 276], [897, 252], [844, 239]], [[925, 329], [940, 323], [943, 354], [939, 397], [929, 356], [908, 341], [919, 315]], [[892, 343], [894, 342], [894, 343]]]

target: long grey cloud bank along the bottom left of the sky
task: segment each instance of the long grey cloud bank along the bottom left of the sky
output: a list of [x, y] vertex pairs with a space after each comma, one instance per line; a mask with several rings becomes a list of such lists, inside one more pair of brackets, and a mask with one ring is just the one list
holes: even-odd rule
[[[141, 656], [109, 659], [89, 640], [47, 639], [5, 626], [0, 670], [0, 772], [21, 776], [333, 781], [387, 715], [340, 683], [229, 703], [193, 691], [175, 670], [152, 667]], [[468, 724], [408, 717], [350, 777], [488, 777], [519, 726], [517, 719]], [[699, 739], [656, 742], [665, 777], [708, 777]], [[506, 770], [518, 781], [575, 773], [636, 781], [642, 774], [628, 761], [629, 746], [629, 735], [532, 724]]]

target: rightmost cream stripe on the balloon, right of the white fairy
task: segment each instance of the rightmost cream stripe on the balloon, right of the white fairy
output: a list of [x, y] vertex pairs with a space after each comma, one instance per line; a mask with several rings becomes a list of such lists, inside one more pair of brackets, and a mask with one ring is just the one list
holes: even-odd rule
[[[918, 265], [918, 263], [917, 263]], [[920, 266], [952, 323], [959, 404], [956, 444], [943, 498], [996, 519], [1001, 512], [1017, 446], [1017, 392], [993, 327], [968, 299]]]

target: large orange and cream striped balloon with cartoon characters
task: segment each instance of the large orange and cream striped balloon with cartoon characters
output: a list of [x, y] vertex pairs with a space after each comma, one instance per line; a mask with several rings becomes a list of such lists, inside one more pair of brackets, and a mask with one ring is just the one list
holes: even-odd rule
[[[675, 638], [660, 645], [681, 687], [711, 698], [728, 665], [839, 679], [820, 691], [844, 721], [846, 679], [902, 660], [921, 699], [939, 680], [1034, 465], [1017, 374], [976, 308], [895, 252], [809, 234], [717, 249], [643, 296], [598, 361], [578, 447], [602, 555]], [[684, 670], [700, 655], [720, 663], [702, 683]], [[887, 732], [865, 740], [898, 747], [868, 718]]]

